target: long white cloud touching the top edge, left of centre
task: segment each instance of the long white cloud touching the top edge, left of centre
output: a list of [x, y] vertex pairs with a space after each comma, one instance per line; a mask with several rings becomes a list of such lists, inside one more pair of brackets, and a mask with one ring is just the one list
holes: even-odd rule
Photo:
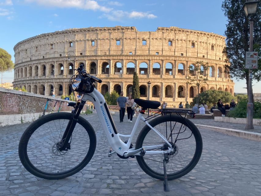
[[79, 9], [91, 9], [100, 10], [102, 12], [109, 12], [112, 8], [100, 6], [96, 1], [93, 0], [24, 0], [26, 3], [37, 3], [39, 5], [48, 7], [68, 7], [68, 8], [79, 8]]

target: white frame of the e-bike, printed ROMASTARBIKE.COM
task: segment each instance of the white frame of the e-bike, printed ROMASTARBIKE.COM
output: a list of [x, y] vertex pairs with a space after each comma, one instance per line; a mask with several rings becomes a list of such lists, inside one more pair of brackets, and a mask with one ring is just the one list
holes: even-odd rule
[[[82, 101], [86, 102], [91, 101], [94, 106], [95, 110], [97, 111], [97, 115], [100, 119], [100, 122], [103, 126], [103, 130], [105, 131], [105, 134], [107, 136], [108, 142], [111, 146], [111, 148], [115, 151], [115, 153], [123, 156], [125, 153], [128, 153], [129, 155], [140, 155], [140, 150], [135, 153], [135, 148], [129, 149], [133, 136], [137, 130], [137, 127], [140, 123], [140, 120], [142, 120], [147, 126], [151, 128], [162, 140], [166, 142], [168, 146], [168, 150], [158, 150], [158, 151], [146, 151], [146, 155], [151, 155], [151, 154], [164, 154], [164, 153], [170, 153], [172, 146], [169, 143], [169, 141], [162, 135], [160, 134], [156, 129], [154, 129], [148, 122], [147, 120], [144, 119], [142, 114], [140, 113], [137, 117], [136, 123], [134, 124], [134, 127], [132, 129], [132, 132], [130, 135], [123, 135], [117, 133], [114, 121], [110, 115], [109, 108], [105, 102], [105, 99], [103, 95], [96, 89], [94, 89], [93, 92], [84, 94], [81, 98]], [[120, 137], [126, 137], [129, 138], [127, 144], [125, 144]], [[151, 145], [151, 146], [143, 146], [142, 148], [144, 150], [148, 149], [153, 149], [153, 148], [162, 148], [162, 145]]]

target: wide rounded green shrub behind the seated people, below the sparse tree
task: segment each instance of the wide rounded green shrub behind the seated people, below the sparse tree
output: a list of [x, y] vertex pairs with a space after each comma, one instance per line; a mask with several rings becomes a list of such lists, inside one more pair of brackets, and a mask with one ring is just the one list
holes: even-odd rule
[[[229, 104], [234, 97], [230, 94], [230, 92], [226, 91], [217, 91], [217, 90], [207, 90], [200, 93], [199, 103], [206, 103], [208, 106], [212, 106], [213, 104], [218, 103], [218, 99], [221, 99], [223, 104]], [[198, 97], [194, 97], [192, 102], [194, 104], [197, 103]]]

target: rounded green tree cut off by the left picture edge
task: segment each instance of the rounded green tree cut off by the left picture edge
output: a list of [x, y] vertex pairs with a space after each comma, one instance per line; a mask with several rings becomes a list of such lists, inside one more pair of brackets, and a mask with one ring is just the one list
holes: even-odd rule
[[3, 81], [3, 72], [11, 71], [13, 69], [13, 61], [11, 61], [11, 55], [8, 54], [7, 51], [0, 48], [0, 71], [2, 72], [1, 75], [1, 87]]

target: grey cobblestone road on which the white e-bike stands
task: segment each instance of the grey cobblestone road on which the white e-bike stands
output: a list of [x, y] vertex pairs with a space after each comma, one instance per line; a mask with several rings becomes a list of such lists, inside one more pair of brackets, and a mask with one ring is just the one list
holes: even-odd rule
[[[118, 113], [112, 116], [119, 133], [130, 133], [136, 118], [128, 123], [125, 117], [119, 123]], [[21, 165], [18, 143], [29, 124], [1, 127], [0, 195], [261, 195], [261, 143], [258, 141], [201, 129], [203, 152], [199, 163], [187, 175], [169, 181], [170, 192], [164, 192], [163, 182], [145, 174], [136, 159], [108, 157], [110, 146], [97, 115], [83, 117], [97, 134], [95, 154], [83, 170], [60, 180], [40, 179]]]

